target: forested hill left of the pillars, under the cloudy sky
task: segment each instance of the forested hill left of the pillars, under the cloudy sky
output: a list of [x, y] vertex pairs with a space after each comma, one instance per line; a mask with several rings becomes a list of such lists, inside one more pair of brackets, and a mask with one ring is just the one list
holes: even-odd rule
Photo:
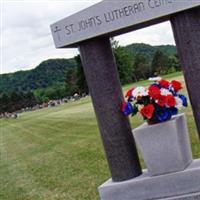
[[0, 92], [27, 92], [65, 82], [66, 70], [76, 67], [74, 59], [50, 59], [35, 69], [2, 74]]

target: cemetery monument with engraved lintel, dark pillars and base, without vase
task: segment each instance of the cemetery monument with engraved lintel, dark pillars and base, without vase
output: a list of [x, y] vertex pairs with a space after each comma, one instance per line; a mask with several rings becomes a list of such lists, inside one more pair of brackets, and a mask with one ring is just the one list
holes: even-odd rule
[[[173, 174], [172, 182], [172, 175], [152, 179], [145, 171], [142, 173], [130, 123], [119, 109], [123, 94], [109, 41], [122, 33], [171, 21], [200, 135], [199, 13], [200, 0], [104, 0], [51, 25], [56, 48], [79, 47], [81, 53], [112, 176], [99, 188], [101, 199], [150, 199], [144, 195], [144, 188], [151, 188], [152, 184], [148, 190], [152, 192], [151, 199], [200, 198], [199, 160], [184, 172]], [[193, 181], [191, 177], [198, 179]], [[176, 188], [174, 183], [181, 183], [182, 187]], [[156, 189], [159, 185], [160, 191]]]

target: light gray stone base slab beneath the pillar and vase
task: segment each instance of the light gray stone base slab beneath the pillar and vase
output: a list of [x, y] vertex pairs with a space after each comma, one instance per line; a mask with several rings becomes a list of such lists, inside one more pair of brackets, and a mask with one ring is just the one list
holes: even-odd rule
[[99, 193], [101, 200], [199, 199], [200, 159], [180, 172], [150, 177], [144, 170], [141, 176], [128, 181], [110, 179], [99, 187]]

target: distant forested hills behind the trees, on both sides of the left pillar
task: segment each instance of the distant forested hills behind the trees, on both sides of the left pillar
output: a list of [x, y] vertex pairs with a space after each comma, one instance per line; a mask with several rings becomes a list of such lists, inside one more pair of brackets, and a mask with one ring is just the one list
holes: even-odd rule
[[[143, 43], [131, 44], [125, 47], [133, 58], [140, 54], [151, 63], [157, 49], [160, 49], [168, 57], [176, 54], [173, 45], [151, 46]], [[18, 71], [10, 74], [2, 74], [0, 79], [0, 93], [13, 91], [34, 91], [57, 84], [65, 84], [66, 70], [77, 66], [75, 59], [50, 59], [43, 61], [35, 69]]]

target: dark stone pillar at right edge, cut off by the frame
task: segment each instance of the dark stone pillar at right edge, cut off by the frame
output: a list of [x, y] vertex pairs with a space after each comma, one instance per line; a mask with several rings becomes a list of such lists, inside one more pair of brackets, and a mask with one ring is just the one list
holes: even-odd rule
[[200, 137], [200, 7], [178, 13], [171, 24]]

